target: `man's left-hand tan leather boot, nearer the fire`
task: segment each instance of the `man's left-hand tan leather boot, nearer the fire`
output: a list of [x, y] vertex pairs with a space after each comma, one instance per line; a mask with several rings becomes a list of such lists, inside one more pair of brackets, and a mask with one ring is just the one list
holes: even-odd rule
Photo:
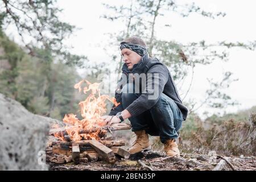
[[134, 131], [134, 133], [136, 134], [137, 138], [133, 143], [133, 147], [129, 149], [130, 154], [135, 154], [138, 152], [143, 152], [145, 150], [150, 150], [151, 146], [150, 146], [150, 142], [148, 139], [148, 135], [146, 134], [146, 131], [145, 130]]

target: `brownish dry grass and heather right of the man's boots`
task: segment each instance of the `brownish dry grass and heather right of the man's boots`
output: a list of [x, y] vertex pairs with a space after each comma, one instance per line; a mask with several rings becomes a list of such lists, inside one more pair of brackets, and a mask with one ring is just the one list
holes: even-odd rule
[[249, 121], [229, 119], [220, 125], [213, 124], [209, 129], [205, 129], [202, 122], [188, 122], [181, 131], [180, 149], [183, 152], [214, 150], [227, 156], [256, 154], [256, 114], [251, 114]]

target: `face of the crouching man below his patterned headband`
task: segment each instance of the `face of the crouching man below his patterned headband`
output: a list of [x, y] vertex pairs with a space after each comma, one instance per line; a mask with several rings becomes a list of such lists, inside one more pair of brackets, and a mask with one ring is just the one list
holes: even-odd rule
[[138, 55], [138, 53], [127, 48], [123, 48], [121, 53], [123, 61], [125, 61], [128, 69], [133, 69], [133, 65], [139, 63], [142, 58], [142, 56]]

